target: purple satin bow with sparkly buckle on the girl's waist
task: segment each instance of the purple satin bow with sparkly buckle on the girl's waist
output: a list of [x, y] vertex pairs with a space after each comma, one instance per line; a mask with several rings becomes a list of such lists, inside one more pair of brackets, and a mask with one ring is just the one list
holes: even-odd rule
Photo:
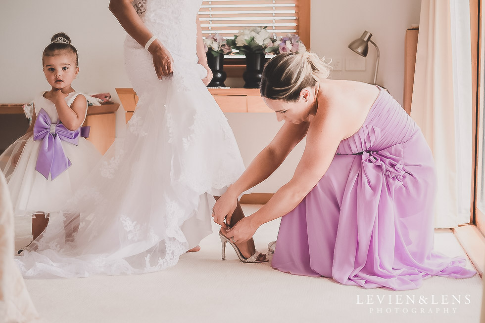
[[79, 136], [88, 138], [90, 127], [79, 127], [72, 131], [59, 120], [52, 122], [46, 110], [41, 109], [34, 124], [34, 140], [42, 140], [35, 169], [46, 179], [53, 180], [71, 166], [62, 148], [62, 141], [78, 145]]

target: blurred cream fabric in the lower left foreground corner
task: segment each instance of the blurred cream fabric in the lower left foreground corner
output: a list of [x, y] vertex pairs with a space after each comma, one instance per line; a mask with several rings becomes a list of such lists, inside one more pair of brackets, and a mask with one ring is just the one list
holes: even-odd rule
[[13, 210], [0, 172], [0, 323], [40, 323], [25, 283], [13, 261]]

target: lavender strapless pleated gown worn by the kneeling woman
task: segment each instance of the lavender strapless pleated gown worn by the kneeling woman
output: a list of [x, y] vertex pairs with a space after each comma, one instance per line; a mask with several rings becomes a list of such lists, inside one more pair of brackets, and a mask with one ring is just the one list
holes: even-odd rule
[[433, 155], [420, 128], [381, 89], [322, 179], [283, 216], [271, 265], [394, 290], [434, 275], [472, 277], [464, 258], [433, 250], [435, 192]]

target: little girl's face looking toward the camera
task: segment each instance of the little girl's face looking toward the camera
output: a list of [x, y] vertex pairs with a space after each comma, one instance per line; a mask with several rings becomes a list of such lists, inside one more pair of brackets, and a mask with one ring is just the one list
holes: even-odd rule
[[44, 74], [52, 89], [70, 87], [77, 77], [79, 67], [76, 56], [68, 50], [55, 51], [52, 56], [44, 56]]

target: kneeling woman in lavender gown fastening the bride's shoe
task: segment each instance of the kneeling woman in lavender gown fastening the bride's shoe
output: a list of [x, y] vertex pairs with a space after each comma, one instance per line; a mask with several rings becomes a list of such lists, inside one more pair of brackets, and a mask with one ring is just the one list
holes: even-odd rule
[[386, 90], [328, 74], [312, 53], [266, 64], [261, 96], [285, 124], [217, 201], [214, 221], [230, 222], [237, 197], [304, 137], [305, 151], [291, 181], [223, 234], [241, 243], [283, 217], [274, 268], [365, 288], [413, 289], [433, 275], [475, 275], [465, 259], [433, 251], [436, 173], [420, 128]]

